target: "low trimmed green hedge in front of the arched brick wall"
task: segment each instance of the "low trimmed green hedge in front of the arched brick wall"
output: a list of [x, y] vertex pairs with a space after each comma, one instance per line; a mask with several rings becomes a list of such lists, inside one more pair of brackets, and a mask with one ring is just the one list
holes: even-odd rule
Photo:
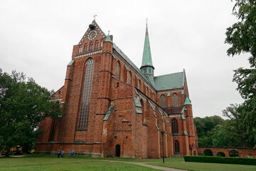
[[215, 156], [193, 156], [186, 155], [185, 162], [212, 162], [212, 163], [225, 163], [225, 164], [238, 164], [238, 165], [256, 165], [255, 158], [242, 158], [242, 157], [215, 157]]

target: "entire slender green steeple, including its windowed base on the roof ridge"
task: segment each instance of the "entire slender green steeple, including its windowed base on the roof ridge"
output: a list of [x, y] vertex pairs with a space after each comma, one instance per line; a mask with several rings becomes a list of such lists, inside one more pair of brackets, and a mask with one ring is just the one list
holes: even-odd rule
[[154, 84], [154, 66], [152, 63], [151, 58], [151, 50], [150, 50], [150, 44], [149, 44], [149, 31], [147, 28], [146, 23], [146, 34], [145, 34], [145, 41], [144, 41], [144, 50], [143, 50], [143, 57], [142, 57], [142, 66], [141, 66], [142, 73], [145, 74], [147, 78], [149, 78], [149, 81]]

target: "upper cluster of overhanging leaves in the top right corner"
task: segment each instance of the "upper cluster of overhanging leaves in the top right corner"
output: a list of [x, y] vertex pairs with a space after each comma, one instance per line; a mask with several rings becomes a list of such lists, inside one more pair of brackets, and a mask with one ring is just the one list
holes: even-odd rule
[[256, 2], [255, 0], [235, 0], [233, 14], [238, 22], [227, 28], [225, 43], [231, 45], [228, 48], [228, 56], [240, 53], [250, 53], [249, 61], [255, 66], [256, 58]]

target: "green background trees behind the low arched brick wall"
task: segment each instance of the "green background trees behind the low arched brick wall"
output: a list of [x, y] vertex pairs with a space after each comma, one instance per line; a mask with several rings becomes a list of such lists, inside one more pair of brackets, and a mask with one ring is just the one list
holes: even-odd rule
[[[256, 132], [244, 124], [240, 110], [240, 105], [223, 110], [227, 120], [219, 116], [194, 118], [199, 147], [254, 147]], [[214, 122], [214, 118], [218, 121]]]

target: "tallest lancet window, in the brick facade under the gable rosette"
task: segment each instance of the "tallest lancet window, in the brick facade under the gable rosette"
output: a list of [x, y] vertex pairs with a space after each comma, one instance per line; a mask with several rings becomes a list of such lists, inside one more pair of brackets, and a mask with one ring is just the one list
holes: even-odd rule
[[78, 129], [84, 130], [88, 127], [88, 119], [90, 112], [90, 97], [92, 93], [92, 78], [93, 78], [94, 61], [90, 58], [85, 63], [85, 80], [82, 87], [82, 97], [80, 104], [80, 113], [78, 121]]

